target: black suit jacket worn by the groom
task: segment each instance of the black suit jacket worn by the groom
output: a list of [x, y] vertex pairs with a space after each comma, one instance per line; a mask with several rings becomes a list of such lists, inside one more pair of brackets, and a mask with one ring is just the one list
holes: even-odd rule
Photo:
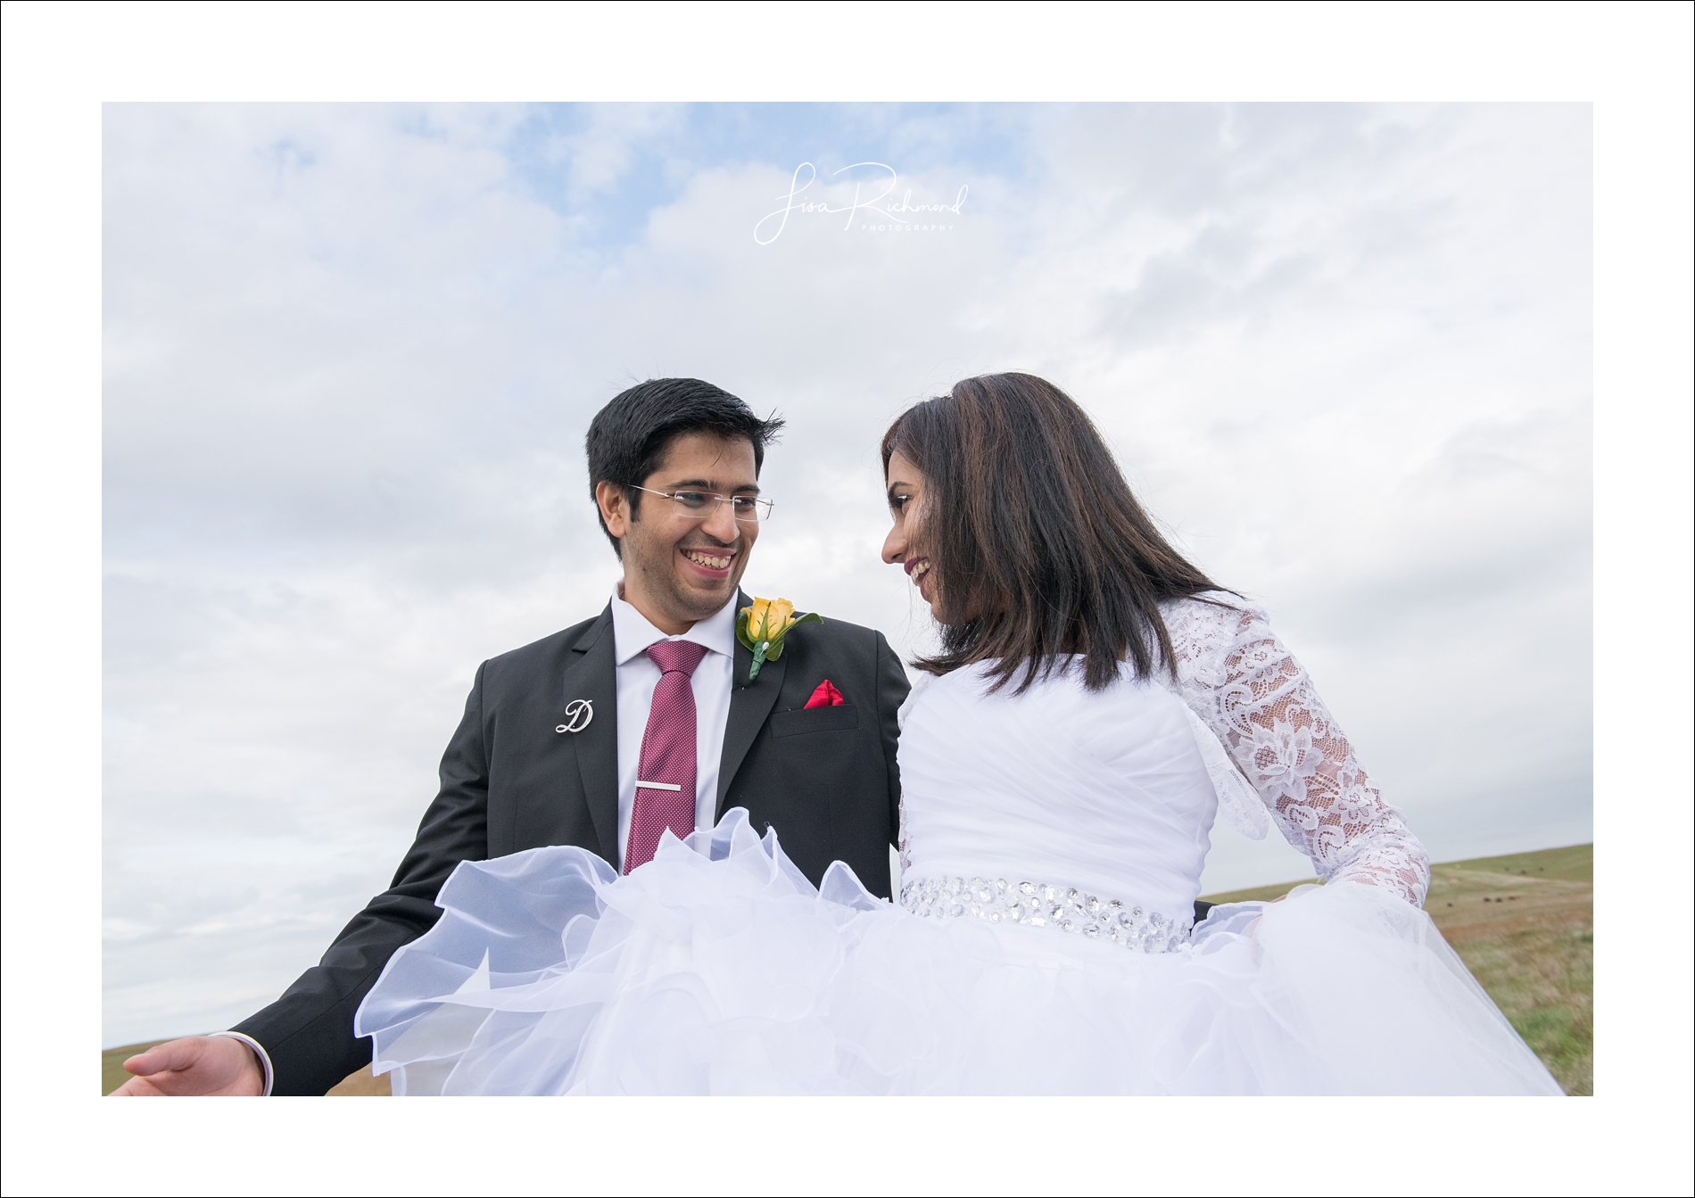
[[[747, 603], [737, 595], [737, 607]], [[737, 644], [719, 815], [746, 807], [758, 830], [775, 827], [814, 885], [839, 859], [886, 898], [900, 820], [895, 713], [909, 690], [900, 659], [883, 634], [827, 618], [795, 629], [749, 685], [751, 664]], [[846, 703], [805, 710], [825, 678]], [[593, 703], [593, 718], [558, 732], [566, 703], [580, 698]], [[622, 864], [617, 713], [610, 605], [478, 668], [441, 759], [441, 791], [390, 888], [315, 968], [234, 1029], [271, 1056], [271, 1093], [322, 1095], [370, 1064], [353, 1015], [395, 949], [436, 923], [436, 895], [461, 861], [575, 844]]]

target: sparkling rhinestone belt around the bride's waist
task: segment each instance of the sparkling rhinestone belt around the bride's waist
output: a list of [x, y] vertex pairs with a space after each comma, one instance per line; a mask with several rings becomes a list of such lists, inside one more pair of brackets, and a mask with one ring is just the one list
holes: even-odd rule
[[1075, 886], [1005, 878], [924, 878], [900, 888], [900, 905], [914, 915], [975, 915], [990, 923], [1054, 927], [1090, 940], [1112, 940], [1136, 952], [1173, 952], [1188, 942], [1190, 922], [1159, 912], [1095, 898]]

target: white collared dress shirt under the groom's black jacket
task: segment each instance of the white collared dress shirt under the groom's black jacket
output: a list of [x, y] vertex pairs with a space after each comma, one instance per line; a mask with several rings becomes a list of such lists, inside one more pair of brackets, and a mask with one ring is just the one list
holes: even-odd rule
[[736, 600], [700, 620], [680, 637], [668, 637], [647, 617], [624, 602], [624, 583], [612, 588], [612, 642], [619, 679], [619, 856], [629, 852], [631, 813], [636, 810], [636, 771], [641, 739], [647, 730], [653, 688], [659, 668], [647, 646], [659, 641], [693, 641], [710, 652], [690, 678], [695, 688], [695, 827], [710, 829], [719, 807], [719, 763], [724, 757], [724, 724], [731, 715], [736, 673]]

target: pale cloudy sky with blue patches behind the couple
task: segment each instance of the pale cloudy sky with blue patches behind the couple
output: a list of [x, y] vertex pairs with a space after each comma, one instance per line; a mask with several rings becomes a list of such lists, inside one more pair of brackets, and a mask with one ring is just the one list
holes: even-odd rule
[[790, 420], [747, 588], [910, 652], [876, 439], [1044, 374], [1434, 859], [1592, 837], [1585, 105], [107, 105], [103, 191], [105, 1044], [386, 885], [476, 664], [605, 603], [651, 376]]

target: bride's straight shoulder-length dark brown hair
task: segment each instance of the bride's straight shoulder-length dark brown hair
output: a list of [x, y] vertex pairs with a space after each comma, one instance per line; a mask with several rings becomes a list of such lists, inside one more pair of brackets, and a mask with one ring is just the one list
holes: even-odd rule
[[1131, 661], [1176, 674], [1163, 600], [1219, 590], [1131, 495], [1088, 415], [1034, 374], [980, 374], [903, 412], [883, 434], [924, 471], [919, 534], [939, 583], [942, 647], [912, 664], [946, 674], [997, 659], [992, 690], [1083, 654], [1088, 690]]

